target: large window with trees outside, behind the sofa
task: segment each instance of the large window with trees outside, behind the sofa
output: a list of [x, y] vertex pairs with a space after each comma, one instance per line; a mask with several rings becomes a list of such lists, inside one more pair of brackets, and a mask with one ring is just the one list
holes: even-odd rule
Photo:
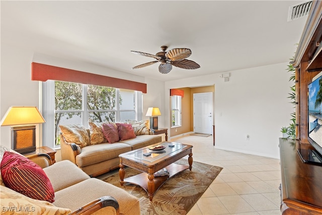
[[59, 125], [141, 120], [142, 93], [95, 85], [43, 83], [43, 145], [60, 147]]

